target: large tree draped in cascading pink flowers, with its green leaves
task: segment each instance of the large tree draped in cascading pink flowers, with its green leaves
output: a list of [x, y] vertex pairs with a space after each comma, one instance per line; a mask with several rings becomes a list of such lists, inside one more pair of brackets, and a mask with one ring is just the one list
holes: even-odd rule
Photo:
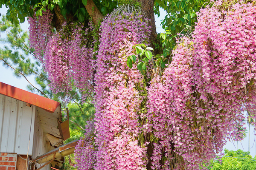
[[[36, 74], [41, 88], [31, 90], [76, 105], [78, 169], [206, 169], [227, 140], [243, 138], [243, 111], [256, 118], [253, 0], [0, 5], [12, 45], [0, 59], [17, 75]], [[157, 34], [160, 8], [166, 32]], [[29, 36], [18, 26], [25, 17]]]

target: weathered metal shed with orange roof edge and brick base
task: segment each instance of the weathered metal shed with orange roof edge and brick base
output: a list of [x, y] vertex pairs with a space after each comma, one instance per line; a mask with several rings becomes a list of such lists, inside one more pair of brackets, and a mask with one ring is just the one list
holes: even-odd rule
[[[57, 119], [61, 121], [59, 102], [0, 82], [0, 169], [21, 170], [24, 156], [36, 159], [61, 146]], [[55, 161], [61, 166], [61, 158]]]

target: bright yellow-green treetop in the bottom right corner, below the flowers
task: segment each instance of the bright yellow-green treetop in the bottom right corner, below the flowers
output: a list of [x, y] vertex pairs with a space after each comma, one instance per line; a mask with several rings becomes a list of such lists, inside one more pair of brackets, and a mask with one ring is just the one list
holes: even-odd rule
[[[221, 159], [211, 160], [208, 170], [255, 170], [256, 158], [250, 156], [250, 152], [242, 150], [227, 150]], [[239, 159], [242, 158], [242, 159]], [[251, 160], [253, 159], [253, 160]]]

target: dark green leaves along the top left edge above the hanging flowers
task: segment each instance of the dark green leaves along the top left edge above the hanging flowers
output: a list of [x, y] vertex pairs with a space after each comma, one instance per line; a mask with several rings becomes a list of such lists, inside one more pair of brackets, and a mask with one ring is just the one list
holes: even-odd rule
[[[109, 14], [114, 8], [117, 8], [115, 0], [93, 0], [96, 7], [103, 15]], [[25, 21], [25, 17], [33, 17], [42, 15], [43, 11], [49, 9], [54, 10], [57, 6], [61, 9], [61, 14], [67, 19], [68, 14], [72, 14], [79, 20], [85, 22], [90, 16], [85, 8], [87, 0], [0, 0], [0, 7], [6, 5], [7, 19], [17, 26]], [[74, 18], [76, 20], [76, 18]]]

